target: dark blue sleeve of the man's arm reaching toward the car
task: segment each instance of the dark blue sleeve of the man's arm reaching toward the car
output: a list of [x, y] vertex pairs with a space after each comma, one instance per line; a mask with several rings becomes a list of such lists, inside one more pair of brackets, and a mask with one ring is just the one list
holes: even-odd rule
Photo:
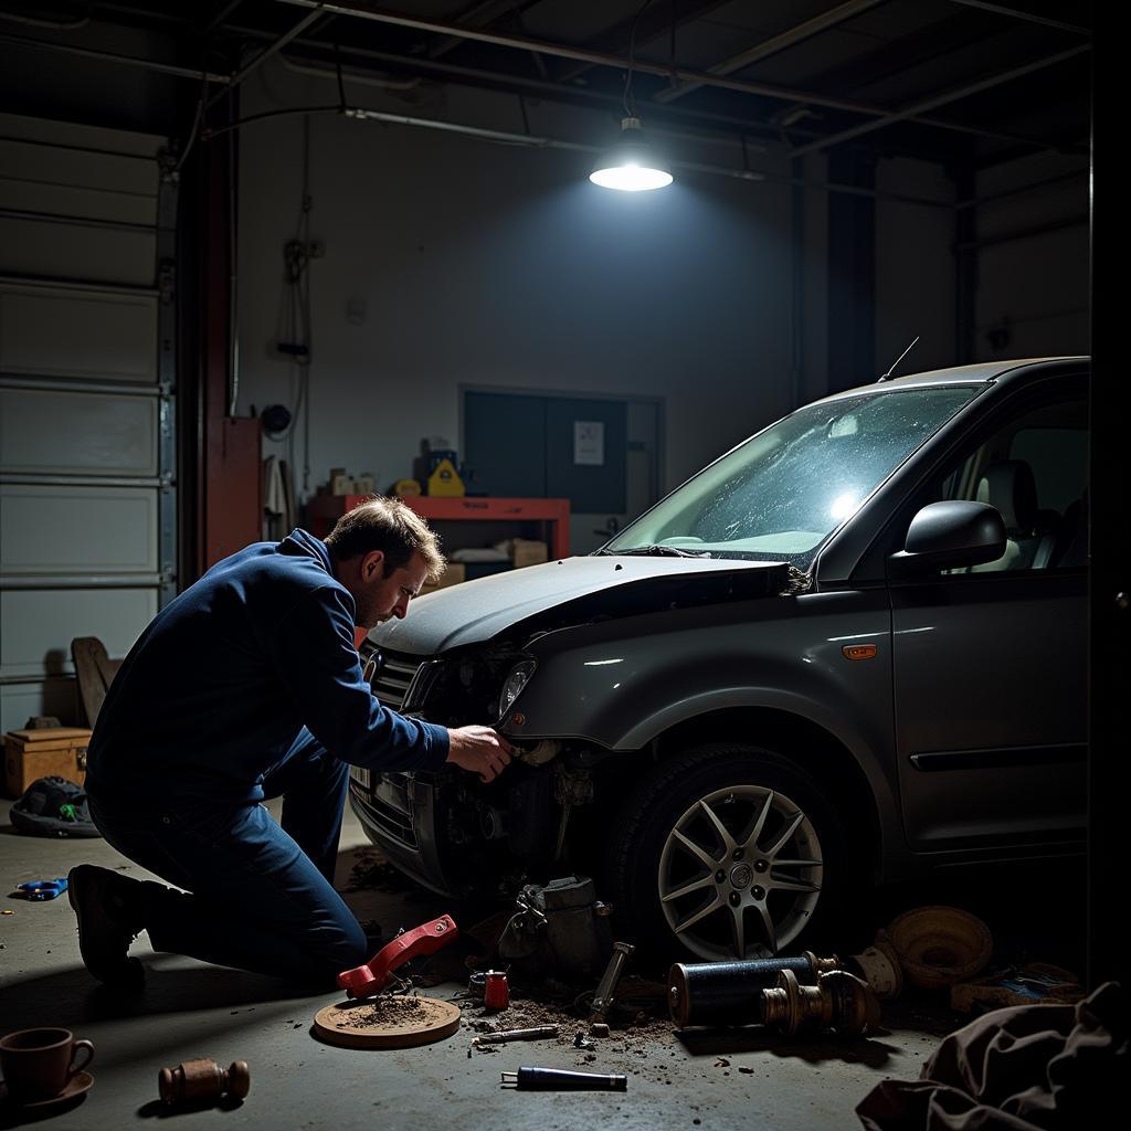
[[302, 722], [336, 758], [375, 770], [434, 770], [448, 758], [446, 727], [382, 707], [362, 676], [347, 596], [307, 594], [276, 625], [270, 647]]

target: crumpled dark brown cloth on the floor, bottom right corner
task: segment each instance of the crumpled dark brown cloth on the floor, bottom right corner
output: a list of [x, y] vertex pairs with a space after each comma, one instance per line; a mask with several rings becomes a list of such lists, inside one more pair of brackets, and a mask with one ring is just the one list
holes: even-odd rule
[[918, 1080], [856, 1106], [869, 1131], [1081, 1131], [1122, 1122], [1128, 995], [1105, 982], [1074, 1005], [995, 1009], [950, 1034]]

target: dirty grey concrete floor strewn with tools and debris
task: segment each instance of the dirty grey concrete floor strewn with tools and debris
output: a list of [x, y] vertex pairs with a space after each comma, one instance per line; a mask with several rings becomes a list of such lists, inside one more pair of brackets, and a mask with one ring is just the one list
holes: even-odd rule
[[[66, 875], [77, 863], [118, 867], [127, 862], [104, 841], [51, 840], [21, 836], [0, 803], [0, 875], [15, 890], [33, 879]], [[347, 814], [339, 856], [338, 887], [348, 884], [354, 866], [372, 860], [368, 841]], [[1081, 869], [1082, 872], [1082, 869]], [[126, 874], [144, 877], [130, 865]], [[1035, 877], [1035, 884], [1047, 877]], [[386, 886], [388, 887], [388, 886]], [[987, 906], [1002, 909], [1002, 888], [991, 886]], [[1026, 935], [1030, 958], [1071, 964], [1077, 932], [1057, 918], [1062, 933], [1042, 950], [1041, 918], [1030, 893], [1016, 884], [1012, 912], [1005, 912], [1012, 938]], [[1036, 888], [1034, 890], [1037, 890]], [[923, 898], [926, 895], [929, 898]], [[881, 914], [925, 903], [955, 901], [946, 891], [916, 898], [898, 892]], [[357, 917], [374, 920], [386, 933], [414, 926], [455, 908], [415, 890], [364, 890], [346, 896]], [[824, 1131], [858, 1126], [855, 1105], [886, 1077], [913, 1079], [942, 1035], [964, 1018], [951, 1013], [944, 998], [922, 991], [884, 1009], [884, 1031], [871, 1039], [831, 1037], [785, 1041], [758, 1029], [707, 1031], [681, 1038], [664, 1021], [645, 1029], [615, 1031], [586, 1061], [572, 1047], [573, 1022], [559, 1042], [507, 1045], [470, 1057], [470, 1022], [482, 1016], [465, 1005], [460, 1030], [439, 1044], [415, 1050], [366, 1052], [330, 1047], [311, 1035], [314, 1013], [340, 1000], [333, 993], [291, 996], [293, 991], [264, 977], [209, 967], [191, 959], [154, 955], [143, 935], [135, 944], [148, 970], [144, 995], [116, 998], [95, 983], [78, 955], [75, 918], [66, 896], [48, 903], [0, 900], [14, 914], [0, 916], [0, 1034], [31, 1026], [63, 1026], [95, 1046], [94, 1086], [70, 1105], [37, 1116], [58, 1128], [118, 1129], [162, 1117], [157, 1072], [196, 1056], [226, 1067], [245, 1060], [251, 1093], [238, 1106], [178, 1114], [179, 1131], [198, 1125], [228, 1128], [370, 1129], [389, 1131], [430, 1126], [592, 1128], [740, 1128]], [[986, 913], [968, 901], [965, 906]], [[1063, 899], [1060, 910], [1065, 910]], [[1068, 908], [1070, 915], [1071, 906]], [[880, 918], [878, 923], [886, 922]], [[466, 926], [467, 922], [460, 922]], [[991, 926], [995, 924], [991, 921]], [[1047, 922], [1045, 926], [1047, 926]], [[222, 924], [217, 924], [222, 926]], [[452, 999], [465, 987], [457, 948], [450, 955], [452, 979], [422, 991]], [[467, 951], [465, 950], [464, 953]], [[506, 1017], [507, 1015], [503, 1015]], [[529, 1022], [527, 1022], [529, 1024]], [[506, 1026], [503, 1026], [506, 1027]], [[578, 1024], [576, 1028], [580, 1028]], [[624, 1095], [516, 1094], [500, 1089], [500, 1071], [520, 1064], [545, 1064], [629, 1074]], [[0, 1128], [29, 1120], [0, 1103]]]

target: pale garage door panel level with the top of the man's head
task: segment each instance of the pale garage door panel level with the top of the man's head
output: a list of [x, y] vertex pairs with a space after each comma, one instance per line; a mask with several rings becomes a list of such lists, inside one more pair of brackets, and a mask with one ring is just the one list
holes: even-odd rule
[[157, 572], [157, 490], [0, 487], [0, 571]]

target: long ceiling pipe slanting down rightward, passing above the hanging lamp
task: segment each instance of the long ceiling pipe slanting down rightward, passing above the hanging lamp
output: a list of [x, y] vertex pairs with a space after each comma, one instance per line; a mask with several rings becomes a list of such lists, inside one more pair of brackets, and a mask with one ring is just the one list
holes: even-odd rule
[[[370, 8], [353, 0], [335, 0], [335, 2], [321, 3], [319, 0], [275, 0], [275, 3], [285, 3], [297, 8], [319, 8], [336, 16], [353, 16], [357, 19], [365, 19], [377, 24], [391, 24], [395, 27], [408, 27], [417, 32], [431, 32], [437, 35], [456, 35], [464, 40], [473, 40], [478, 43], [491, 43], [500, 48], [513, 48], [518, 51], [535, 51], [541, 54], [555, 55], [560, 59], [575, 59], [580, 62], [597, 63], [603, 67], [614, 67], [624, 70], [628, 67], [627, 60], [620, 55], [612, 55], [597, 51], [586, 51], [581, 48], [571, 48], [561, 43], [547, 43], [543, 40], [532, 40], [518, 35], [502, 35], [498, 32], [482, 32], [477, 28], [461, 27], [459, 24], [447, 24], [432, 19], [420, 19], [415, 16], [405, 16], [399, 12], [385, 11], [378, 8]], [[744, 79], [727, 78], [722, 75], [710, 75], [706, 71], [689, 70], [684, 67], [667, 67], [659, 63], [649, 63], [642, 60], [633, 61], [633, 70], [644, 71], [649, 75], [659, 75], [663, 78], [676, 78], [691, 83], [701, 83], [703, 86], [717, 86], [727, 90], [739, 90], [743, 94], [757, 94], [767, 98], [777, 98], [782, 102], [804, 103], [813, 106], [824, 106], [829, 110], [844, 110], [848, 113], [865, 114], [881, 120], [891, 116], [891, 110], [884, 106], [873, 106], [866, 103], [853, 102], [847, 98], [831, 98], [827, 95], [817, 94], [810, 90], [792, 90], [785, 87], [770, 86], [765, 83], [750, 83]], [[957, 126], [940, 119], [922, 118], [918, 115], [904, 115], [907, 121], [916, 122], [921, 126], [934, 126], [944, 130], [957, 130], [962, 133], [982, 133], [984, 131], [967, 126]], [[1050, 146], [1033, 138], [1002, 138], [994, 135], [998, 140], [1012, 140], [1025, 145], [1034, 146], [1037, 149], [1048, 149]]]

